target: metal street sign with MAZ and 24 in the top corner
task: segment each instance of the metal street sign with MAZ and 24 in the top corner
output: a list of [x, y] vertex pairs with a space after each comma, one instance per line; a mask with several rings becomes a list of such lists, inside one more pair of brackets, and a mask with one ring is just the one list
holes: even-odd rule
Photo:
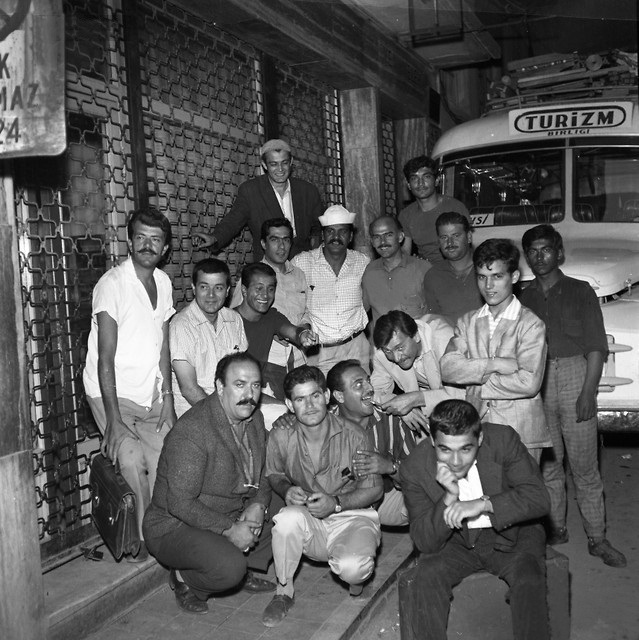
[[0, 159], [66, 147], [61, 0], [0, 0]]

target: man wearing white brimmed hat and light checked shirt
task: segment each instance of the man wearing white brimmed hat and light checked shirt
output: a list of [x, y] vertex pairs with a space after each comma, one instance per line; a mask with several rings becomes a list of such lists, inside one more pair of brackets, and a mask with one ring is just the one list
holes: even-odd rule
[[323, 244], [291, 261], [306, 276], [307, 317], [318, 335], [319, 348], [307, 352], [309, 364], [324, 375], [340, 360], [354, 358], [368, 367], [368, 322], [362, 299], [362, 275], [368, 256], [349, 249], [355, 214], [333, 205], [320, 216]]

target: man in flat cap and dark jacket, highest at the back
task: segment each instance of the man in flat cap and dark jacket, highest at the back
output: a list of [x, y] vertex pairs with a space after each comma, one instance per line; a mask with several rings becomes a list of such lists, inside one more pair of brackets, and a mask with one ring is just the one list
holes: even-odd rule
[[317, 188], [306, 180], [291, 177], [293, 156], [284, 140], [269, 140], [260, 149], [264, 175], [240, 185], [228, 215], [215, 227], [212, 235], [197, 233], [202, 246], [217, 253], [245, 225], [253, 237], [253, 260], [262, 259], [260, 243], [262, 224], [271, 218], [284, 217], [293, 226], [290, 257], [319, 245], [321, 229], [318, 217], [324, 206]]

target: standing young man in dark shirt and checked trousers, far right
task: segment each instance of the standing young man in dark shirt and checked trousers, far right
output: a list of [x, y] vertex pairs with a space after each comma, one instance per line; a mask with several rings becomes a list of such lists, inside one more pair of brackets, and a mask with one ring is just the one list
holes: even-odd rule
[[548, 361], [542, 388], [552, 451], [542, 471], [552, 508], [550, 544], [568, 542], [564, 453], [575, 483], [588, 552], [611, 567], [625, 567], [625, 556], [605, 537], [603, 482], [597, 462], [597, 386], [608, 353], [599, 301], [587, 282], [565, 276], [561, 235], [551, 225], [524, 233], [522, 245], [535, 279], [522, 304], [546, 323]]

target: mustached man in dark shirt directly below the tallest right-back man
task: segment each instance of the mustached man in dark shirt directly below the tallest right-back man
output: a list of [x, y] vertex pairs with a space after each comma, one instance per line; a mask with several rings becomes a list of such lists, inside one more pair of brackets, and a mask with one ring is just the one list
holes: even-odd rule
[[443, 315], [453, 326], [483, 301], [473, 265], [472, 229], [466, 216], [442, 213], [435, 222], [443, 262], [436, 262], [424, 277], [428, 313]]

